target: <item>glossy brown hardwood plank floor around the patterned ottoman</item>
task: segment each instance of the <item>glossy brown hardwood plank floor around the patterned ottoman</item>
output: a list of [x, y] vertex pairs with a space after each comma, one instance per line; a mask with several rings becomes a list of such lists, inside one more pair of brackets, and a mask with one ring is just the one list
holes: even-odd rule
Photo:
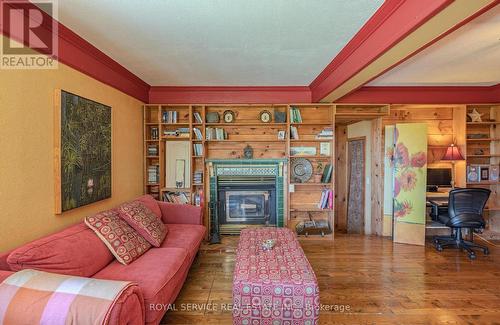
[[[231, 282], [238, 237], [203, 244], [162, 324], [231, 324]], [[302, 241], [316, 273], [324, 310], [320, 324], [500, 324], [500, 249], [464, 252], [336, 234]], [[193, 310], [203, 307], [203, 310]], [[344, 312], [340, 311], [344, 307]], [[349, 307], [349, 310], [346, 310]], [[191, 310], [187, 310], [187, 309]]]

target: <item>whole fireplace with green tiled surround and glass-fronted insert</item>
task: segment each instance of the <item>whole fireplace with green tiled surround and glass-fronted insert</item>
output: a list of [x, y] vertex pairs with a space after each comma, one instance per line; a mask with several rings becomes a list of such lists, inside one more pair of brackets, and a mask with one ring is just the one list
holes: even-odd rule
[[212, 243], [246, 227], [284, 225], [284, 161], [209, 160]]

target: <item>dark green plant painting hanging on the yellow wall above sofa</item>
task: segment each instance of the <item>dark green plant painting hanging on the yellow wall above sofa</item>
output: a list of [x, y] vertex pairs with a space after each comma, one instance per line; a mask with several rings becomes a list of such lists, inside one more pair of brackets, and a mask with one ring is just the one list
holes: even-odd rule
[[56, 90], [55, 210], [111, 197], [111, 107]]

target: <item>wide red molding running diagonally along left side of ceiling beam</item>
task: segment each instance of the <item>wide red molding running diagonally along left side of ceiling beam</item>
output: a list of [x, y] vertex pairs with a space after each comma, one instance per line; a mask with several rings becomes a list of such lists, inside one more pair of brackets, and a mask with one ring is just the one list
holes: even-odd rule
[[310, 84], [320, 101], [453, 0], [387, 0]]

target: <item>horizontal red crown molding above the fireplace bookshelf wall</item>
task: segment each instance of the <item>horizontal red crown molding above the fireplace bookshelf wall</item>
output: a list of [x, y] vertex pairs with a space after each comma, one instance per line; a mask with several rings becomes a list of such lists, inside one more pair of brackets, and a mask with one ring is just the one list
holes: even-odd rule
[[310, 103], [307, 86], [237, 86], [237, 87], [169, 87], [152, 86], [149, 103], [207, 103], [207, 104], [273, 104]]

